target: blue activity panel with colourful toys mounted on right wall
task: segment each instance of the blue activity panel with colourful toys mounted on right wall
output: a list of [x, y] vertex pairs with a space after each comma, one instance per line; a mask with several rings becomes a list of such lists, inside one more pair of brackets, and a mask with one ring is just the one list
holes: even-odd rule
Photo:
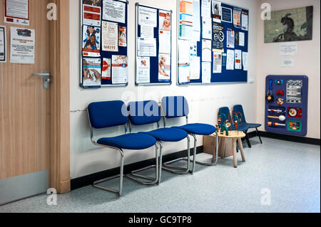
[[307, 134], [309, 79], [305, 75], [268, 75], [265, 130], [280, 134]]

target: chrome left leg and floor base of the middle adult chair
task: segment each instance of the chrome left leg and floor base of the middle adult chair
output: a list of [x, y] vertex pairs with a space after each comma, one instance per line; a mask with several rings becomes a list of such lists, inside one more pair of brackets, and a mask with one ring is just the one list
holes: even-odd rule
[[[153, 185], [153, 184], [157, 184], [158, 183], [158, 179], [159, 179], [159, 163], [158, 163], [158, 145], [156, 144], [156, 165], [152, 165], [150, 167], [145, 167], [143, 169], [138, 169], [135, 171], [132, 171], [131, 174], [127, 174], [126, 177], [128, 177], [129, 179], [136, 181], [140, 184], [145, 184], [145, 185]], [[152, 169], [155, 168], [156, 169], [156, 176], [155, 178], [153, 177], [149, 177], [149, 176], [143, 176], [141, 174], [136, 174], [140, 171], [146, 170], [146, 169]], [[149, 181], [141, 181], [139, 178], [141, 179], [147, 179]]]

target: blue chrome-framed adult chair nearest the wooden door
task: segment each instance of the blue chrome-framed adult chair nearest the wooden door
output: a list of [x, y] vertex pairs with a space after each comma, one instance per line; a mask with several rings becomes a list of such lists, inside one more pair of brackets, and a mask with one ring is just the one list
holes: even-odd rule
[[[128, 124], [128, 111], [124, 102], [122, 101], [110, 101], [110, 102], [93, 102], [88, 105], [88, 118], [91, 127], [91, 142], [96, 146], [115, 149], [121, 154], [121, 171], [117, 176], [112, 176], [100, 181], [93, 182], [93, 186], [105, 191], [111, 191], [113, 193], [122, 196], [123, 194], [123, 164], [124, 164], [124, 152], [123, 149], [129, 150], [141, 150], [148, 149], [150, 147], [156, 147], [156, 160], [158, 159], [158, 146], [156, 139], [148, 134], [139, 133], [127, 133]], [[96, 140], [93, 137], [93, 129], [106, 129], [109, 127], [125, 126], [126, 134], [118, 137], [106, 137]], [[158, 164], [158, 162], [157, 162]], [[156, 168], [158, 169], [158, 168]], [[109, 189], [98, 184], [120, 177], [119, 190]], [[149, 184], [157, 184], [158, 171], [156, 172], [156, 179], [149, 182]]]

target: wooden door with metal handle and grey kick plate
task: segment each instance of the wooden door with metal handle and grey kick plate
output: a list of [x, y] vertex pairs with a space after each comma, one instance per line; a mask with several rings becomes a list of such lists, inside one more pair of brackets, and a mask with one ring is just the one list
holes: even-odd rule
[[[0, 63], [0, 204], [40, 194], [49, 188], [50, 89], [35, 73], [50, 69], [48, 0], [29, 0], [29, 26], [6, 26], [6, 63]], [[10, 27], [35, 30], [34, 64], [10, 63]]]

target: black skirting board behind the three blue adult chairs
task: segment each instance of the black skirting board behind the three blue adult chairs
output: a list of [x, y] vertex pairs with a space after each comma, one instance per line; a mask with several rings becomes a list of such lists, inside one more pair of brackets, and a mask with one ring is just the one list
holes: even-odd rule
[[[191, 150], [193, 153], [193, 149]], [[197, 149], [197, 154], [200, 154], [203, 152], [203, 146], [202, 147], [198, 147]], [[174, 159], [178, 159], [178, 158], [181, 158], [181, 157], [187, 157], [187, 150], [183, 151], [183, 152], [176, 152], [176, 153], [173, 153], [173, 154], [168, 154], [168, 155], [164, 155], [163, 156], [163, 162], [169, 162], [171, 160], [174, 160]], [[191, 154], [193, 155], [193, 154]], [[153, 164], [155, 164], [155, 159], [149, 159], [149, 160], [146, 160], [146, 161], [143, 161], [143, 162], [137, 162], [137, 163], [133, 163], [133, 164], [128, 164], [124, 167], [124, 174], [129, 174], [131, 173], [131, 171], [134, 171], [136, 169], [142, 169], [144, 167], [148, 167], [148, 166], [151, 166]], [[115, 168], [115, 169], [109, 169], [109, 170], [106, 170], [106, 171], [101, 171], [99, 173], [96, 173], [96, 174], [91, 174], [91, 175], [88, 175], [88, 176], [82, 176], [82, 177], [79, 177], [79, 178], [76, 178], [76, 179], [72, 179], [71, 180], [71, 190], [76, 190], [76, 189], [80, 189], [84, 186], [88, 186], [88, 185], [91, 185], [93, 184], [94, 181], [98, 181], [98, 180], [101, 180], [101, 179], [105, 179], [107, 177], [110, 177], [110, 176], [116, 176], [119, 174], [119, 171], [120, 171], [120, 168]]]

